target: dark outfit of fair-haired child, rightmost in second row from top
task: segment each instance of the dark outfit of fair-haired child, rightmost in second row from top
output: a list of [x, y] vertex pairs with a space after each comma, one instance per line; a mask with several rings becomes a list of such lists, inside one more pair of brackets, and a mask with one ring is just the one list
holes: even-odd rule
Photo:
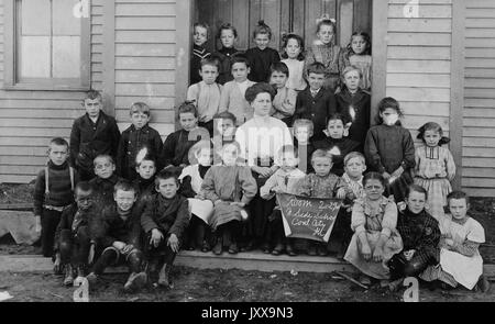
[[[348, 121], [352, 122], [348, 137], [359, 142], [360, 152], [363, 152], [364, 141], [366, 139], [367, 130], [370, 130], [371, 96], [361, 89], [354, 94], [351, 94], [351, 92], [343, 87], [342, 91], [336, 94], [336, 100], [337, 112], [343, 114]], [[352, 118], [351, 105], [353, 108], [354, 118]]]

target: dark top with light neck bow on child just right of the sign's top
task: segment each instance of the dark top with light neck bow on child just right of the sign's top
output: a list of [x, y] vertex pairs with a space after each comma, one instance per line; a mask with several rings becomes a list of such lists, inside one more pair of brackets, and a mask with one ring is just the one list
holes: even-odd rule
[[343, 159], [345, 155], [348, 155], [351, 152], [359, 150], [359, 147], [360, 147], [359, 142], [352, 141], [346, 137], [342, 138], [327, 137], [324, 139], [315, 142], [315, 149], [332, 150], [332, 161], [333, 161], [332, 172], [339, 177], [342, 177], [344, 172]]

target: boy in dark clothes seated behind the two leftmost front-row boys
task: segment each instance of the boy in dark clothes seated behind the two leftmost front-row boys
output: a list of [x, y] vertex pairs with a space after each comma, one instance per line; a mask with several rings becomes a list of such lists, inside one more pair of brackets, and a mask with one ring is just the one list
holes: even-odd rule
[[113, 187], [120, 177], [116, 171], [116, 163], [110, 155], [98, 155], [94, 161], [96, 177], [89, 181], [94, 188], [96, 201], [103, 208], [113, 202]]

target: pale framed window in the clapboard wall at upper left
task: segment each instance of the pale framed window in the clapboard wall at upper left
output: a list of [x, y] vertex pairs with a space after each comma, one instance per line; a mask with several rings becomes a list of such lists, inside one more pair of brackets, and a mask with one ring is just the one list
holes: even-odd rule
[[[89, 5], [88, 1], [82, 1]], [[89, 19], [80, 0], [6, 1], [6, 87], [89, 88]]]

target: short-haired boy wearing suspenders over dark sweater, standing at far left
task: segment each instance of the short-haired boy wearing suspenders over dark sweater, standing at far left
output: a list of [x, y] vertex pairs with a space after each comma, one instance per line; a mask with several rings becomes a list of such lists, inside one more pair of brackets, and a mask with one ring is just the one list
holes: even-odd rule
[[40, 219], [41, 243], [44, 257], [53, 256], [54, 235], [62, 211], [74, 202], [73, 190], [79, 180], [78, 172], [67, 163], [67, 141], [55, 137], [50, 141], [48, 163], [36, 177], [34, 185], [34, 215]]

